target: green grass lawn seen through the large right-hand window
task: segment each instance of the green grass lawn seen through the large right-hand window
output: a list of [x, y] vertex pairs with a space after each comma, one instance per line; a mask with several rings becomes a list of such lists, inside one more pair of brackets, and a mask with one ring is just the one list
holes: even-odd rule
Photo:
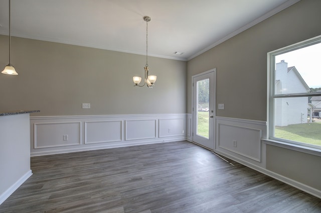
[[275, 127], [276, 138], [321, 146], [321, 123], [293, 124]]

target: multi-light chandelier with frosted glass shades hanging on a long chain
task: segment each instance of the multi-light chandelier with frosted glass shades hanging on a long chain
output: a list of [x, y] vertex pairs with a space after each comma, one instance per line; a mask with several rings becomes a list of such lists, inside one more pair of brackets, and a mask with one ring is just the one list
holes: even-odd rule
[[145, 70], [145, 79], [144, 79], [144, 84], [139, 85], [141, 81], [141, 77], [139, 76], [134, 76], [132, 77], [132, 80], [134, 81], [134, 86], [144, 86], [146, 84], [147, 87], [152, 88], [151, 86], [155, 83], [156, 81], [156, 75], [148, 75], [149, 67], [148, 67], [148, 22], [150, 21], [149, 16], [144, 16], [143, 17], [144, 21], [146, 22], [146, 65], [144, 66]]

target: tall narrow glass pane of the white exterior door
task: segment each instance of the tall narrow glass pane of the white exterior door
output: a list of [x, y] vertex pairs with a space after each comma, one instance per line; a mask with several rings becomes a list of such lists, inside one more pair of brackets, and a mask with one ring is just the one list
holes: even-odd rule
[[197, 135], [209, 138], [210, 79], [197, 81]]

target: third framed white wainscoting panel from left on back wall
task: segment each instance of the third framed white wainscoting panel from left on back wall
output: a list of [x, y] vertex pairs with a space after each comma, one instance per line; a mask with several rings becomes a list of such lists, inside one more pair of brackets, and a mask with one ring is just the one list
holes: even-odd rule
[[156, 119], [126, 121], [126, 141], [156, 138]]

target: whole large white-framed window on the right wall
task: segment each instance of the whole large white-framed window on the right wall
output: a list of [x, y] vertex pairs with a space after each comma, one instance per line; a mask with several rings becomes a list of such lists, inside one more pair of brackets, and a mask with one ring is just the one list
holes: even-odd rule
[[321, 36], [268, 53], [269, 138], [321, 149]]

